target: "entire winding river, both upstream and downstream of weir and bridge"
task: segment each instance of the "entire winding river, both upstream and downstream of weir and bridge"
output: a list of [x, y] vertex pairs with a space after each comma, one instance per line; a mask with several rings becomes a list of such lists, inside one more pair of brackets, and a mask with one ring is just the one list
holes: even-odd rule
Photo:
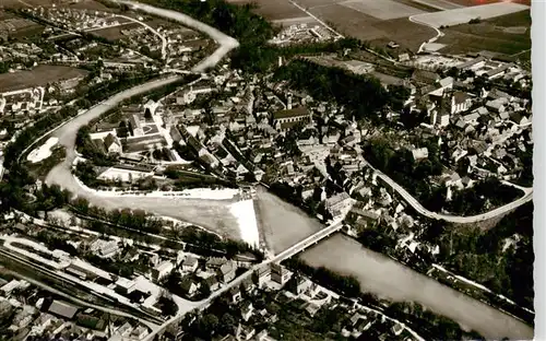
[[[131, 2], [131, 4], [134, 4], [134, 2]], [[177, 15], [176, 12], [168, 11], [169, 15], [166, 15], [167, 12], [162, 10], [159, 13], [147, 5], [140, 7], [140, 9], [155, 12], [155, 14], [163, 13], [169, 17], [175, 15], [177, 19], [188, 21], [188, 16], [183, 14]], [[205, 28], [210, 30], [210, 27]], [[217, 34], [218, 32], [212, 33]], [[238, 44], [226, 38], [226, 36], [216, 36], [216, 39], [221, 44], [224, 43], [224, 45], [217, 52], [201, 62], [198, 69], [213, 66], [225, 52]], [[237, 220], [229, 213], [230, 201], [104, 197], [80, 186], [70, 172], [72, 162], [75, 158], [75, 134], [80, 127], [115, 107], [124, 98], [175, 80], [177, 78], [149, 82], [121, 92], [56, 130], [52, 136], [59, 139], [59, 144], [67, 148], [67, 158], [51, 169], [46, 183], [58, 184], [75, 195], [86, 198], [92, 204], [106, 209], [142, 209], [159, 215], [190, 221], [233, 237], [240, 237]], [[268, 243], [275, 250], [282, 250], [320, 230], [321, 225], [306, 216], [300, 210], [282, 202], [278, 198], [270, 197], [269, 193], [259, 196], [261, 198], [259, 198], [257, 207], [262, 234], [269, 235], [265, 239], [269, 238]], [[491, 339], [509, 337], [520, 340], [533, 338], [532, 328], [519, 320], [441, 285], [434, 279], [422, 275], [394, 260], [367, 250], [355, 240], [341, 234], [320, 243], [304, 252], [301, 257], [312, 266], [324, 266], [334, 271], [354, 274], [361, 282], [364, 290], [380, 296], [390, 297], [393, 301], [418, 302], [438, 314], [450, 317], [459, 324], [478, 331], [484, 337]]]

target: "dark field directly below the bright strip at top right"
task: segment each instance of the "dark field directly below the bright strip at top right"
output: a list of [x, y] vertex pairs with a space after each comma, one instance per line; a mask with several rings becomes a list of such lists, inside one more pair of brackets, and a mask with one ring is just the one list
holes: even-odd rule
[[[527, 60], [531, 56], [531, 15], [530, 11], [512, 13], [478, 24], [462, 24], [446, 30], [437, 43], [447, 44], [441, 49], [446, 54], [479, 52], [483, 50], [513, 56]], [[510, 33], [509, 27], [527, 27], [526, 32]], [[518, 31], [518, 30], [517, 30]]]

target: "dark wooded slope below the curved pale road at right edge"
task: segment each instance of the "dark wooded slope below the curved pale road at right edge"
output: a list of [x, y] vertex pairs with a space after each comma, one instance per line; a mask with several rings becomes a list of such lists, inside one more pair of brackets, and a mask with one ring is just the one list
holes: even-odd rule
[[[517, 304], [532, 308], [533, 203], [506, 215], [492, 228], [437, 225], [427, 237], [440, 245], [440, 259], [453, 272], [484, 284]], [[507, 238], [514, 238], [508, 246]], [[506, 249], [505, 249], [506, 247]], [[442, 257], [443, 255], [443, 257]]]

